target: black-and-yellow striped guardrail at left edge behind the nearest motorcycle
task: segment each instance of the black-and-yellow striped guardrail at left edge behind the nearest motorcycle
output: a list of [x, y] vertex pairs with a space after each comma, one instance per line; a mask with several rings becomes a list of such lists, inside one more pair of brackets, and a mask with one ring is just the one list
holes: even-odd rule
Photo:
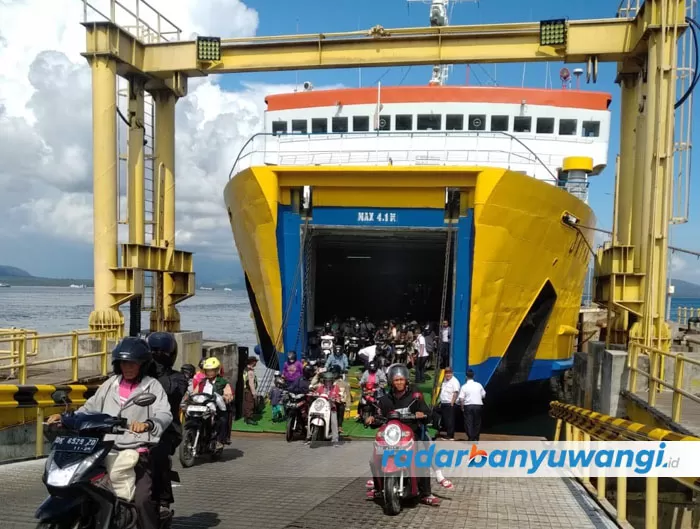
[[[89, 399], [98, 386], [13, 386], [0, 385], [0, 427], [36, 421], [36, 457], [44, 455], [44, 418], [52, 413], [77, 409]], [[57, 391], [67, 394], [61, 400]]]

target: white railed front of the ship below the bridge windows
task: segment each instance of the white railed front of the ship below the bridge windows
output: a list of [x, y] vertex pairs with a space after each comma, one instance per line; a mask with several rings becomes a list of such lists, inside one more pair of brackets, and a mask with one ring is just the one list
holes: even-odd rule
[[[468, 147], [464, 141], [470, 140]], [[504, 140], [508, 143], [505, 144]], [[574, 151], [593, 144], [581, 138], [558, 139], [570, 142]], [[536, 175], [552, 183], [563, 154], [538, 154], [522, 139], [507, 132], [420, 131], [420, 132], [343, 132], [321, 134], [274, 134], [260, 132], [241, 148], [229, 179], [255, 165], [336, 165], [385, 163], [400, 165], [488, 164], [534, 166]], [[522, 169], [518, 169], [522, 170]]]

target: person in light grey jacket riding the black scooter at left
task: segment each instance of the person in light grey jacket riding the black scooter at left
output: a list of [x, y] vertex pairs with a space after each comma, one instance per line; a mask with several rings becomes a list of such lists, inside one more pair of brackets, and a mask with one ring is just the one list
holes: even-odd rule
[[[129, 432], [105, 435], [106, 441], [114, 441], [117, 449], [134, 449], [139, 460], [134, 467], [136, 490], [134, 505], [142, 529], [158, 529], [160, 516], [158, 505], [152, 499], [153, 470], [150, 448], [156, 446], [173, 420], [168, 397], [157, 380], [148, 376], [153, 353], [148, 343], [137, 337], [124, 338], [112, 351], [114, 375], [108, 378], [76, 413], [105, 413], [117, 416], [122, 413], [129, 425]], [[147, 407], [130, 406], [122, 409], [126, 401], [140, 393], [152, 393], [156, 400]], [[51, 415], [49, 424], [61, 422], [61, 414]]]

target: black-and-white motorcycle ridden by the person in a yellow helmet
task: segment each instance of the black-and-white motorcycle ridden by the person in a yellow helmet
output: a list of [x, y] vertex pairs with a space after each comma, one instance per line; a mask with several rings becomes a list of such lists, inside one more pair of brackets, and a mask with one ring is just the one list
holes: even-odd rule
[[194, 465], [198, 455], [208, 453], [212, 461], [221, 457], [216, 448], [216, 401], [218, 395], [195, 393], [185, 402], [180, 463], [185, 468]]

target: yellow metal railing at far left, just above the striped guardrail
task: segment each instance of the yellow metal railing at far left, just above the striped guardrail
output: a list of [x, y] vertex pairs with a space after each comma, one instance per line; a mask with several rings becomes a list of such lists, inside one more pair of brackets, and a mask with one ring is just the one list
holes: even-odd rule
[[[121, 334], [121, 328], [75, 330], [54, 334], [39, 334], [29, 329], [2, 329], [0, 331], [0, 380], [23, 385], [34, 376], [30, 375], [30, 370], [46, 378], [52, 376], [53, 366], [61, 363], [70, 363], [67, 378], [72, 381], [107, 376], [111, 352], [109, 341], [120, 339]], [[90, 359], [95, 360], [90, 361]], [[51, 367], [48, 372], [38, 373], [46, 371], [37, 369], [42, 366]], [[54, 371], [54, 376], [60, 377], [60, 372]], [[52, 382], [61, 382], [61, 380], [52, 380]]]

